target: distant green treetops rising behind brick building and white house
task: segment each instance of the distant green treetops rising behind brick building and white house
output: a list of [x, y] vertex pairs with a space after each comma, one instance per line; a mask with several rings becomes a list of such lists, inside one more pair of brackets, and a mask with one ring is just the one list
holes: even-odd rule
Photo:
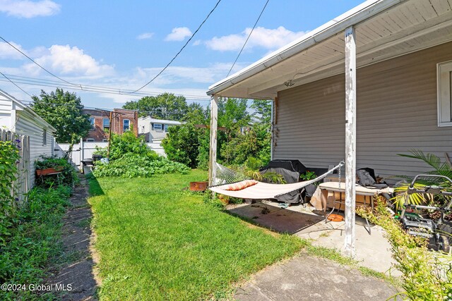
[[186, 99], [172, 93], [157, 96], [145, 96], [137, 101], [126, 102], [123, 109], [138, 110], [140, 116], [182, 121], [188, 111]]

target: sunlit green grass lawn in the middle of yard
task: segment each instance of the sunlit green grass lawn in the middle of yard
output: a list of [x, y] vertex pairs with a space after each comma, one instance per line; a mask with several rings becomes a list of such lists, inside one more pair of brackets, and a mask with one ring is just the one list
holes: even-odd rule
[[182, 190], [204, 171], [90, 181], [101, 300], [227, 297], [303, 242], [251, 226]]

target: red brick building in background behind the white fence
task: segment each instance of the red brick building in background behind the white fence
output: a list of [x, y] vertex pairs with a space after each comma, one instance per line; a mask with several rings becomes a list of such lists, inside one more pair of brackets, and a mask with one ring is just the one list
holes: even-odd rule
[[[90, 115], [91, 129], [85, 137], [86, 142], [105, 142], [108, 140], [107, 131], [122, 134], [126, 130], [133, 130], [138, 136], [138, 111], [126, 109], [83, 109], [83, 113]], [[110, 117], [112, 120], [110, 120]]]

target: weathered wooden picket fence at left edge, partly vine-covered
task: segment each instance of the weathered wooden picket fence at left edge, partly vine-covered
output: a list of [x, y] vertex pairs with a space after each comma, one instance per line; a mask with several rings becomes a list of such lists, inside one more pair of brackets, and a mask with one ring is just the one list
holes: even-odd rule
[[16, 163], [17, 174], [12, 185], [12, 192], [18, 197], [18, 204], [25, 201], [26, 193], [30, 190], [30, 137], [18, 135], [9, 130], [1, 130], [1, 141], [13, 141], [18, 146], [20, 159]]

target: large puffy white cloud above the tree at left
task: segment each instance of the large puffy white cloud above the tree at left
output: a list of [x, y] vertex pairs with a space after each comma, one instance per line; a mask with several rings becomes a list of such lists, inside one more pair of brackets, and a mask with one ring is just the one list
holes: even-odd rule
[[[44, 68], [63, 75], [96, 78], [114, 74], [114, 66], [101, 64], [92, 56], [85, 54], [83, 49], [69, 45], [52, 45], [47, 54], [40, 56], [35, 61]], [[39, 67], [33, 63], [29, 63], [23, 68], [33, 74], [40, 73]]]

